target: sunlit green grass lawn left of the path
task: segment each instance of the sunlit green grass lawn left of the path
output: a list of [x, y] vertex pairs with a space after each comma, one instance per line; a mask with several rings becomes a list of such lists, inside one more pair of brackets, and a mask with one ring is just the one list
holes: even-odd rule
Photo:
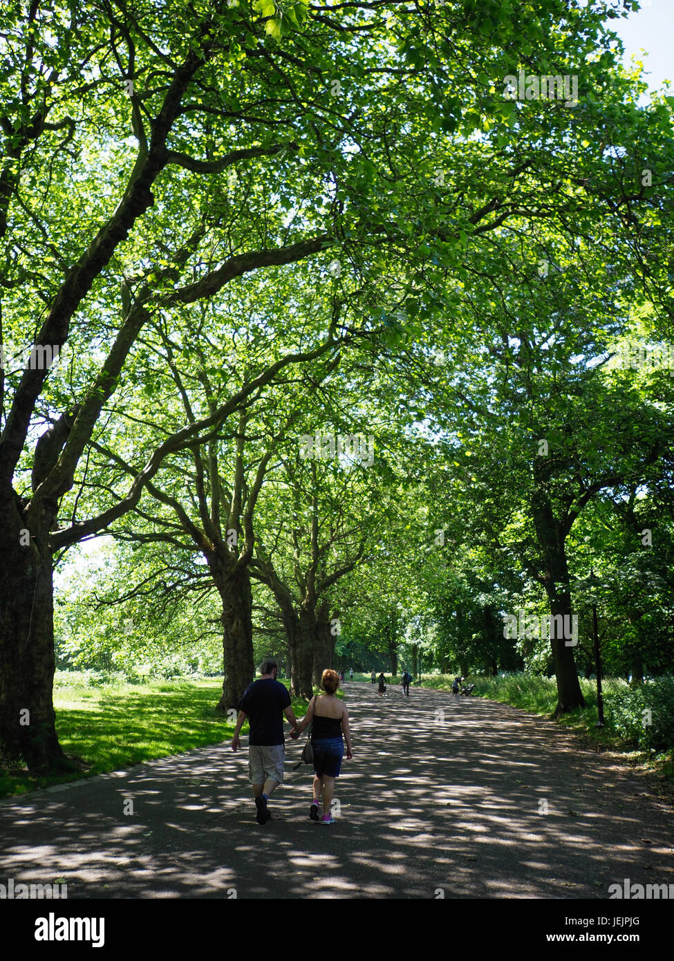
[[[82, 758], [84, 770], [32, 776], [25, 770], [0, 768], [0, 798], [219, 744], [234, 733], [236, 718], [215, 711], [222, 694], [219, 678], [96, 687], [80, 678], [75, 674], [70, 681], [59, 673], [54, 706], [62, 749]], [[300, 719], [307, 702], [293, 698], [292, 709]], [[247, 731], [246, 722], [242, 733]]]

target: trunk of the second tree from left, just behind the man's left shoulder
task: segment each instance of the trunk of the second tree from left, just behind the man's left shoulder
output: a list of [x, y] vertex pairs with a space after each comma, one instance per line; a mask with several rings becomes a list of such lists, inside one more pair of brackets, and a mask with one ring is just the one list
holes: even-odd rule
[[241, 695], [255, 676], [253, 663], [253, 592], [248, 571], [229, 569], [213, 560], [213, 581], [222, 599], [222, 654], [225, 679], [217, 706], [237, 709]]

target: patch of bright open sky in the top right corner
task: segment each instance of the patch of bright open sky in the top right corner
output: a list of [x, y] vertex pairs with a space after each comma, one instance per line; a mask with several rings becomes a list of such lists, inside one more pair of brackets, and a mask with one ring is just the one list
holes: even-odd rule
[[[605, 2], [612, 5], [611, 0]], [[674, 85], [674, 0], [641, 0], [638, 12], [607, 24], [625, 45], [626, 64], [635, 54], [644, 61], [645, 80], [652, 90], [660, 89], [665, 80]]]

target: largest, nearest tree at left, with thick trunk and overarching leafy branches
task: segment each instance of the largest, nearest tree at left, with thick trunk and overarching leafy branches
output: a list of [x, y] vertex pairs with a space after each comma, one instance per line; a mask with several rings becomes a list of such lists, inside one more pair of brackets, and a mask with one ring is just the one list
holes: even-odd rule
[[[512, 149], [518, 139], [531, 149], [541, 134], [537, 115], [525, 119], [492, 92], [512, 69], [512, 39], [560, 69], [596, 43], [587, 80], [601, 90], [611, 77], [610, 38], [596, 40], [601, 18], [562, 0], [544, 0], [524, 26], [496, 0], [421, 18], [391, 4], [392, 25], [368, 5], [340, 21], [334, 8], [284, 10], [224, 0], [24, 10], [12, 0], [7, 14], [2, 342], [30, 344], [42, 362], [5, 371], [2, 382], [0, 751], [35, 770], [62, 763], [51, 699], [54, 552], [118, 520], [164, 456], [208, 438], [242, 400], [174, 431], [120, 501], [57, 530], [148, 321], [331, 247], [362, 279], [389, 342], [403, 327], [418, 334], [434, 306], [415, 296], [420, 278], [441, 283], [465, 237], [522, 209], [550, 212], [550, 144], [564, 122], [545, 115], [537, 171]], [[588, 104], [578, 134], [592, 131], [595, 112]], [[581, 209], [577, 197], [562, 202], [565, 217]], [[413, 265], [401, 291], [381, 289], [391, 255]], [[392, 316], [408, 302], [404, 320]], [[87, 354], [91, 344], [100, 359]], [[59, 383], [44, 357], [66, 346], [72, 369]], [[54, 432], [31, 479], [45, 424]], [[26, 711], [31, 723], [20, 725]]]

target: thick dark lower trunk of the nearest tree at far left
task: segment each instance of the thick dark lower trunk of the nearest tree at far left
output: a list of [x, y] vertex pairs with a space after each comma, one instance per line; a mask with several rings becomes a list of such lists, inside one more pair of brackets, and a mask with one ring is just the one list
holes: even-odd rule
[[[53, 560], [46, 532], [24, 526], [10, 488], [0, 497], [0, 755], [33, 773], [72, 768], [54, 712]], [[28, 542], [28, 543], [26, 543]]]

